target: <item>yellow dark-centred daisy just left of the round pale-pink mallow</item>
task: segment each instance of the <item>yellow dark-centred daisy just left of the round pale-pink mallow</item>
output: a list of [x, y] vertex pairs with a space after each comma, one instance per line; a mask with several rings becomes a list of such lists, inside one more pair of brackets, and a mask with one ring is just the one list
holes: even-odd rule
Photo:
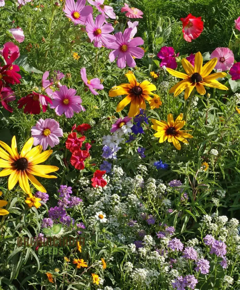
[[228, 87], [220, 84], [219, 81], [216, 80], [219, 77], [225, 77], [227, 75], [226, 73], [213, 73], [212, 75], [209, 75], [216, 64], [217, 57], [214, 57], [203, 66], [201, 52], [197, 52], [194, 59], [194, 68], [188, 60], [185, 58], [182, 59], [182, 66], [187, 74], [180, 73], [171, 68], [166, 68], [166, 70], [174, 77], [183, 79], [175, 84], [169, 90], [169, 93], [174, 93], [174, 97], [177, 97], [183, 90], [185, 90], [184, 99], [187, 99], [195, 87], [200, 95], [206, 93], [204, 86], [220, 90], [228, 90]]

